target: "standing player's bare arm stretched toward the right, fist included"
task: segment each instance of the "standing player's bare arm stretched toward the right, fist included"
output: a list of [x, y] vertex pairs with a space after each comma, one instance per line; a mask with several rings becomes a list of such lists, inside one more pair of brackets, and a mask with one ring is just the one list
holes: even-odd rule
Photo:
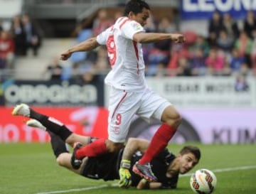
[[138, 43], [154, 43], [164, 40], [174, 41], [174, 43], [184, 43], [185, 37], [180, 33], [135, 33], [133, 40]]

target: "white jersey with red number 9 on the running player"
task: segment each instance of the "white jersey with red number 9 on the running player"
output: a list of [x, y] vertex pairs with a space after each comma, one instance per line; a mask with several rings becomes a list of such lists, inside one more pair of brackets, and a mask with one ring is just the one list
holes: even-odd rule
[[132, 40], [135, 33], [144, 28], [137, 21], [127, 17], [118, 18], [113, 26], [97, 36], [97, 43], [107, 45], [107, 53], [112, 70], [105, 83], [119, 90], [144, 90], [144, 59], [142, 44]]

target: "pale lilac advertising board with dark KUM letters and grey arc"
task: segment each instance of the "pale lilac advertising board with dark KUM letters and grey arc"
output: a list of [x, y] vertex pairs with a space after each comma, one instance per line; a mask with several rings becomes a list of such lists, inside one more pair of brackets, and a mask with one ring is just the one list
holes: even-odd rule
[[[256, 144], [256, 109], [178, 109], [183, 122], [170, 142], [203, 144]], [[142, 125], [140, 125], [142, 126]], [[151, 139], [160, 124], [145, 124], [137, 135]], [[131, 130], [135, 130], [133, 126]]]

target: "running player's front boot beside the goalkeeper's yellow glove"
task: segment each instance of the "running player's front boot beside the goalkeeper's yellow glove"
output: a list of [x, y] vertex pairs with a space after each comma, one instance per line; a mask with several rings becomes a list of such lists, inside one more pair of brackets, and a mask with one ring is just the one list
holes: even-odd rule
[[150, 163], [145, 164], [139, 164], [138, 162], [134, 164], [132, 171], [136, 173], [137, 175], [141, 176], [142, 178], [145, 178], [149, 182], [156, 182], [157, 178], [154, 176], [154, 173], [151, 170]]

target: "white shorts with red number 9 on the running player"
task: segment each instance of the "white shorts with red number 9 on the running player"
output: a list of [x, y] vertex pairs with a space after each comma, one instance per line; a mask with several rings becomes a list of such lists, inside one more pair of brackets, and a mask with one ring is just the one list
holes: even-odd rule
[[108, 139], [119, 143], [126, 140], [135, 114], [147, 122], [152, 118], [160, 121], [164, 109], [171, 105], [149, 88], [142, 92], [126, 92], [113, 87], [109, 104]]

